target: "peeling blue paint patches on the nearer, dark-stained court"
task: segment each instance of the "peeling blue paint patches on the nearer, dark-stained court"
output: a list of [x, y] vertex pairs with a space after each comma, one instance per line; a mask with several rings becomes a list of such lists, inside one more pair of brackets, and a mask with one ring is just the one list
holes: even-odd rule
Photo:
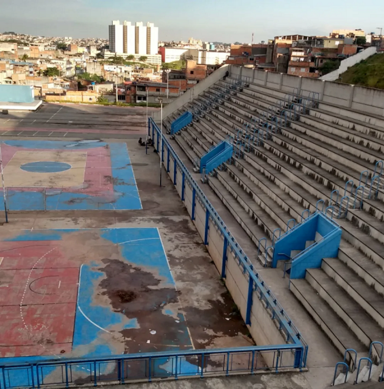
[[[78, 229], [26, 230], [20, 235], [7, 240], [15, 242], [60, 241], [63, 240], [65, 234], [78, 231]], [[122, 258], [127, 260], [129, 264], [154, 274], [160, 280], [158, 287], [176, 288], [157, 228], [103, 228], [92, 229], [92, 231], [97, 231], [101, 238], [110, 242], [106, 242], [106, 244], [117, 245]], [[98, 285], [104, 275], [103, 267], [105, 267], [105, 264], [97, 259], [94, 259], [91, 264], [81, 266], [72, 346], [72, 352], [76, 356], [101, 357], [117, 353], [113, 342], [108, 342], [108, 336], [112, 335], [101, 328], [111, 333], [114, 331], [115, 334], [119, 331], [119, 328], [120, 330], [132, 328], [140, 330], [140, 323], [137, 318], [128, 318], [124, 313], [115, 312], [112, 306], [100, 306], [95, 302], [95, 296], [100, 291]], [[192, 348], [184, 315], [167, 308], [166, 301], [164, 301], [164, 304], [162, 314], [172, 316], [180, 322], [177, 324], [178, 333], [167, 333], [167, 329], [163, 329], [165, 344], [172, 345], [166, 346], [165, 349]], [[154, 328], [156, 328], [155, 323]], [[37, 363], [56, 358], [53, 355], [0, 358], [0, 364]], [[158, 375], [167, 374], [168, 366], [164, 365], [166, 362], [167, 359], [157, 360], [153, 364], [153, 373]], [[100, 369], [104, 368], [107, 369], [107, 365], [100, 367]], [[53, 372], [50, 369], [53, 368], [45, 368], [46, 376]], [[73, 369], [76, 369], [76, 367], [73, 367]], [[15, 371], [9, 374], [9, 380], [12, 381], [12, 384], [17, 383], [17, 385], [23, 386], [28, 383], [28, 377], [24, 373], [20, 375]]]

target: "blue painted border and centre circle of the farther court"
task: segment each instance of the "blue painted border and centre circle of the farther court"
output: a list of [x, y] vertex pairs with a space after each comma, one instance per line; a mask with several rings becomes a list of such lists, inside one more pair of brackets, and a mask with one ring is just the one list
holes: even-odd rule
[[[99, 141], [30, 141], [7, 140], [9, 146], [22, 149], [67, 150], [88, 149], [106, 146]], [[81, 210], [81, 209], [142, 209], [140, 196], [136, 186], [133, 169], [130, 163], [127, 145], [111, 143], [111, 166], [113, 178], [113, 199], [104, 196], [92, 196], [83, 193], [62, 192], [60, 189], [36, 188], [34, 191], [23, 192], [22, 188], [7, 190], [9, 210]], [[63, 170], [59, 170], [59, 165]], [[33, 162], [22, 165], [23, 170], [53, 173], [64, 171], [70, 167], [63, 162]], [[2, 193], [2, 191], [1, 191]]]

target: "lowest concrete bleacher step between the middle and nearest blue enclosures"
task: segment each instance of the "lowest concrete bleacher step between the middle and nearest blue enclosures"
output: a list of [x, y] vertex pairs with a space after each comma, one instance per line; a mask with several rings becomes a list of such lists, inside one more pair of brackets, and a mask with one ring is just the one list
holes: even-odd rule
[[[256, 221], [246, 212], [246, 210], [240, 205], [236, 198], [231, 195], [224, 185], [214, 177], [210, 177], [208, 180], [209, 187], [220, 198], [223, 204], [228, 208], [232, 216], [243, 227], [247, 235], [258, 246], [259, 240], [266, 237], [265, 230], [260, 227]], [[266, 247], [271, 245], [271, 240], [267, 238]], [[256, 259], [257, 253], [254, 253], [254, 259]], [[270, 265], [270, 263], [268, 264]]]

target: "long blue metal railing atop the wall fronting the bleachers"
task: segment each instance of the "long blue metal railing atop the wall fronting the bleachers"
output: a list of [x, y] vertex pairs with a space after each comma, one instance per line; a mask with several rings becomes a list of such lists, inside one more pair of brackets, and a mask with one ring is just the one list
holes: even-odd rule
[[[265, 307], [270, 311], [271, 317], [279, 324], [280, 329], [285, 333], [287, 342], [293, 343], [295, 345], [300, 345], [302, 347], [302, 355], [300, 356], [301, 362], [299, 363], [299, 365], [300, 367], [305, 367], [308, 353], [308, 344], [304, 341], [300, 332], [292, 323], [291, 319], [289, 319], [289, 317], [285, 313], [285, 310], [278, 303], [271, 290], [267, 287], [267, 285], [264, 284], [264, 281], [255, 271], [251, 261], [247, 258], [243, 250], [240, 248], [240, 245], [236, 242], [235, 238], [231, 235], [231, 233], [229, 232], [224, 222], [221, 220], [207, 197], [201, 191], [200, 187], [197, 185], [196, 181], [193, 179], [191, 173], [188, 171], [186, 166], [180, 160], [179, 156], [169, 143], [168, 139], [163, 134], [161, 134], [160, 129], [152, 118], [149, 118], [149, 123], [152, 128], [152, 138], [154, 139], [155, 132], [157, 134], [157, 137], [163, 136], [163, 144], [166, 148], [170, 150], [170, 153], [172, 154], [173, 158], [177, 161], [177, 167], [178, 169], [180, 169], [181, 174], [185, 177], [186, 185], [190, 186], [198, 201], [202, 204], [202, 206], [205, 208], [205, 211], [209, 214], [209, 219], [212, 220], [212, 222], [217, 226], [218, 230], [220, 231], [220, 234], [223, 236], [224, 247], [227, 245], [228, 249], [232, 252], [234, 257], [238, 259], [239, 265], [243, 268], [243, 272], [247, 276], [249, 276], [249, 285], [251, 285], [253, 290], [258, 293], [259, 299], [264, 301]], [[251, 307], [252, 305], [250, 305], [250, 301], [248, 300], [247, 316], [251, 311]]]

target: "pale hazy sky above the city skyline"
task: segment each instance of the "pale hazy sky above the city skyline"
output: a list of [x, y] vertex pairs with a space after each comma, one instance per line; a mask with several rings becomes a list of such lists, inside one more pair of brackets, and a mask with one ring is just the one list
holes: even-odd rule
[[108, 38], [112, 20], [152, 22], [162, 41], [267, 41], [277, 35], [377, 32], [383, 0], [0, 0], [0, 32]]

